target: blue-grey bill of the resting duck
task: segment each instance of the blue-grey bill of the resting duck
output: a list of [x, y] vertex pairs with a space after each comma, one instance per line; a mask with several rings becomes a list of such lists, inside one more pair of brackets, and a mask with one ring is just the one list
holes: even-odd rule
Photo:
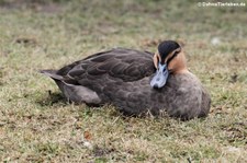
[[167, 79], [169, 75], [169, 71], [167, 69], [167, 65], [158, 65], [158, 69], [156, 70], [156, 73], [154, 78], [150, 81], [150, 86], [154, 89], [160, 89], [167, 83]]

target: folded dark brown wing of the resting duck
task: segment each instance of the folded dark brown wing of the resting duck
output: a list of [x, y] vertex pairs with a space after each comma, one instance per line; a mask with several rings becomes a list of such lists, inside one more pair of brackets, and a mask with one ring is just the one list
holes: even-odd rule
[[103, 79], [104, 75], [125, 82], [136, 81], [154, 73], [150, 53], [116, 48], [89, 56], [58, 70], [69, 80]]

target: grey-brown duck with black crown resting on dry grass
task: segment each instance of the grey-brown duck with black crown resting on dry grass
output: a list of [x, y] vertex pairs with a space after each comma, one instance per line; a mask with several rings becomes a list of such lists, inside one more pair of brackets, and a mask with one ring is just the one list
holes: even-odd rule
[[206, 117], [211, 97], [188, 70], [183, 47], [162, 40], [156, 53], [113, 48], [58, 70], [41, 70], [76, 104], [113, 105], [127, 116]]

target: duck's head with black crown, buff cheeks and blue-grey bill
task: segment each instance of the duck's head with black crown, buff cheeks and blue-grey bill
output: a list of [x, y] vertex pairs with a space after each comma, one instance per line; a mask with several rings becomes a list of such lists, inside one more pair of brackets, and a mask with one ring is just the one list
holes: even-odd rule
[[153, 59], [156, 74], [150, 81], [151, 88], [162, 88], [170, 73], [177, 74], [187, 71], [186, 57], [182, 47], [177, 42], [161, 42]]

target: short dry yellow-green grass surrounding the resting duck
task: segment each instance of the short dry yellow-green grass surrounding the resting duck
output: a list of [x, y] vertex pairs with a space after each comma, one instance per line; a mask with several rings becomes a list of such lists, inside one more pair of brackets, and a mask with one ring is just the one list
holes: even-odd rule
[[[0, 161], [247, 162], [246, 13], [193, 0], [0, 0]], [[209, 117], [68, 104], [37, 72], [116, 46], [154, 51], [160, 39], [184, 44], [212, 96]]]

